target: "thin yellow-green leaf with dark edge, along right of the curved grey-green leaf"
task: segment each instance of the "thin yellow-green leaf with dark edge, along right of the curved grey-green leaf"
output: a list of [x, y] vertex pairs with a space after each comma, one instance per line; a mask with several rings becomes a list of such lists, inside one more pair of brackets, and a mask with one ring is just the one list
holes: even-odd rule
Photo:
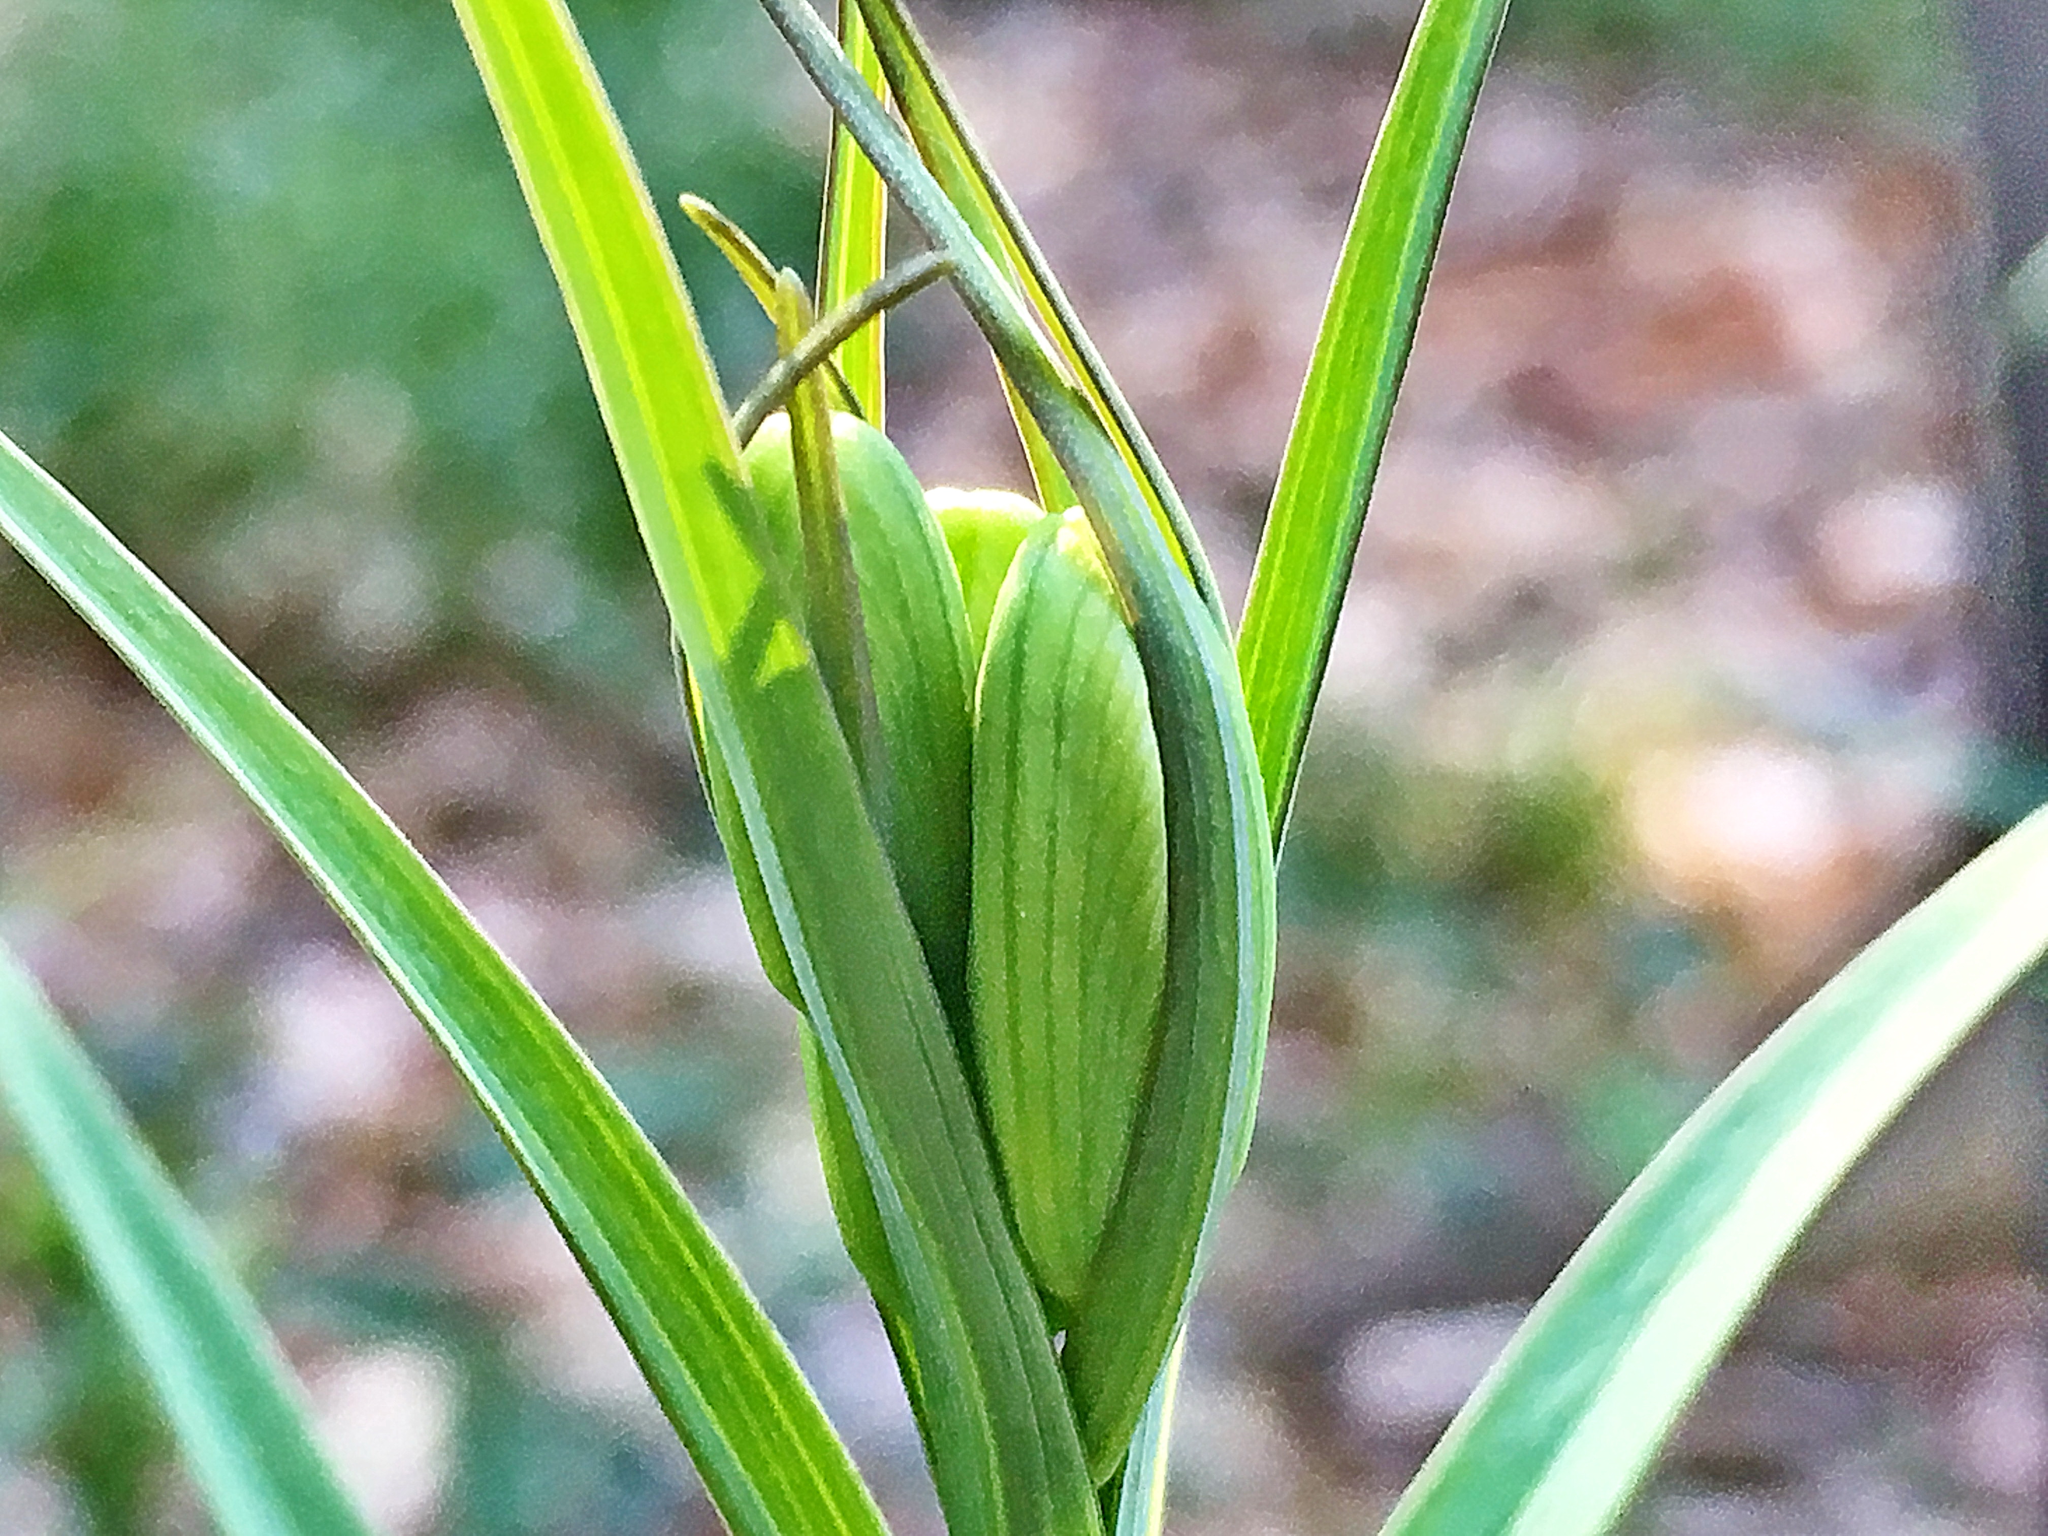
[[[909, 135], [926, 168], [938, 178], [938, 184], [952, 199], [961, 217], [967, 219], [967, 227], [981, 248], [1018, 285], [1018, 293], [1024, 297], [1032, 317], [1057, 348], [1065, 373], [1079, 383], [1081, 395], [1094, 410], [1096, 420], [1108, 432], [1118, 453], [1122, 453], [1133, 479], [1145, 492], [1153, 516], [1159, 518], [1167, 541], [1194, 580], [1196, 592], [1202, 594], [1202, 602], [1208, 604], [1221, 625], [1223, 598], [1217, 592], [1217, 578], [1208, 569], [1208, 559], [1194, 535], [1194, 524], [1188, 520], [1188, 508], [1180, 502], [1180, 492], [1174, 489], [1174, 481], [1167, 479], [1159, 455], [1153, 453], [1151, 440], [1145, 436], [1145, 428], [1139, 426], [1137, 414], [1124, 401], [1122, 391], [1102, 362], [1102, 354], [1081, 328], [1081, 319], [1067, 301], [1065, 289], [1059, 287], [1059, 279], [1053, 276], [1053, 268], [1038, 250], [1038, 242], [1024, 227], [1016, 203], [1012, 203], [1010, 193], [995, 178], [987, 156], [981, 154], [981, 145], [975, 143], [973, 133], [967, 129], [967, 119], [954, 104], [944, 78], [940, 78], [930, 47], [926, 47], [924, 37], [903, 12], [899, 0], [860, 0], [860, 8], [868, 18], [872, 47], [881, 55], [883, 72], [889, 76], [889, 90], [903, 113], [903, 123], [909, 127]], [[1032, 451], [1036, 465], [1038, 457], [1042, 457], [1042, 444], [1034, 442], [1030, 422], [1024, 422], [1024, 426], [1026, 449]], [[1040, 479], [1044, 479], [1042, 471]], [[1055, 512], [1061, 506], [1069, 506], [1069, 502], [1044, 487], [1040, 487], [1038, 500]]]

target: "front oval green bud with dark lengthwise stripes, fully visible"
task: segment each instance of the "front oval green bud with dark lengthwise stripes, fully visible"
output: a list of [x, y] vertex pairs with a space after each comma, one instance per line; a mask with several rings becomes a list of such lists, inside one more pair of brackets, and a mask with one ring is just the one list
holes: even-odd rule
[[973, 1059], [1026, 1262], [1071, 1307], [1124, 1178], [1165, 975], [1159, 743], [1079, 510], [1024, 535], [975, 700]]

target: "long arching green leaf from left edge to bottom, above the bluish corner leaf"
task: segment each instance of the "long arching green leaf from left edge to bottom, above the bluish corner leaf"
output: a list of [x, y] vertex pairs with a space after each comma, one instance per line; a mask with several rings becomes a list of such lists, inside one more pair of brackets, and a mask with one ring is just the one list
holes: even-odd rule
[[0, 535], [227, 768], [449, 1053], [604, 1298], [731, 1530], [879, 1536], [881, 1516], [846, 1448], [659, 1153], [383, 811], [6, 438]]

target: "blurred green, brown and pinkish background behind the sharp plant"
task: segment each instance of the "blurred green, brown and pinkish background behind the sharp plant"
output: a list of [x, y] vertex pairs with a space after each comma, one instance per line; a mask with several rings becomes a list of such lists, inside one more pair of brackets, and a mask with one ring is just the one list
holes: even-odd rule
[[[1688, 1108], [2042, 797], [2011, 666], [2028, 463], [1997, 401], [2034, 334], [2003, 287], [2025, 242], [1985, 190], [2011, 176], [1987, 182], [1997, 100], [1958, 18], [1516, 6], [1282, 868], [1178, 1532], [1372, 1530]], [[575, 10], [657, 203], [702, 193], [807, 268], [825, 119], [768, 25]], [[920, 12], [1233, 602], [1413, 10]], [[2025, 10], [1987, 2], [1968, 35]], [[0, 428], [422, 844], [672, 1157], [897, 1530], [936, 1532], [453, 12], [16, 0], [0, 141]], [[737, 397], [770, 340], [680, 223]], [[1020, 485], [952, 299], [891, 334], [922, 477]], [[379, 1530], [719, 1528], [453, 1073], [6, 553], [0, 938], [252, 1280]], [[2048, 1524], [2040, 1087], [2023, 1018], [1944, 1073], [1628, 1530]], [[0, 1532], [205, 1530], [0, 1128]]]

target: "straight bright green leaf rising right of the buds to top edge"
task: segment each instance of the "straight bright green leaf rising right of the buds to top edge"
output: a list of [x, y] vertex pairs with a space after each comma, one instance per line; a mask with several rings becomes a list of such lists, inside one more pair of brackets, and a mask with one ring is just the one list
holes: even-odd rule
[[1278, 840], [1450, 180], [1507, 0], [1427, 0], [1358, 188], [1260, 539], [1237, 666]]

